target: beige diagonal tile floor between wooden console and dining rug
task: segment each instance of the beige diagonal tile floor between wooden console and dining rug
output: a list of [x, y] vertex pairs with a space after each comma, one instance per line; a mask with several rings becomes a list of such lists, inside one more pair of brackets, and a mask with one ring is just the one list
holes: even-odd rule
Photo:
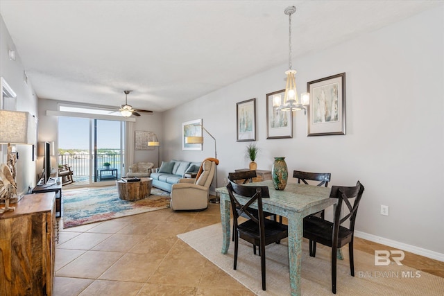
[[[219, 222], [219, 204], [210, 204], [60, 229], [54, 295], [254, 295], [176, 236]], [[381, 247], [355, 243], [370, 254]], [[443, 262], [407, 254], [404, 263], [444, 277]]]

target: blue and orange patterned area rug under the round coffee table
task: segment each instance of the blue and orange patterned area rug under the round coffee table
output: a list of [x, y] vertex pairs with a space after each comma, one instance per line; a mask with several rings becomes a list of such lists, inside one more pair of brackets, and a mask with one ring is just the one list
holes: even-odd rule
[[121, 200], [116, 186], [63, 191], [62, 199], [64, 228], [166, 209], [170, 201], [169, 192], [157, 188], [143, 200]]

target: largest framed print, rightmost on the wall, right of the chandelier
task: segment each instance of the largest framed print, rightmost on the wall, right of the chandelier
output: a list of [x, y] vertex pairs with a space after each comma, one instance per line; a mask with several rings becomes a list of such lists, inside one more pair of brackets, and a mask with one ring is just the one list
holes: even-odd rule
[[307, 82], [307, 136], [345, 134], [345, 73]]

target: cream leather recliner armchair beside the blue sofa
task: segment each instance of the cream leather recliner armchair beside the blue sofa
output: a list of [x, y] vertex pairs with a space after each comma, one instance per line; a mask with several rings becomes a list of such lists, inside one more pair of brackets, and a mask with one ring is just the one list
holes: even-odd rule
[[174, 211], [207, 209], [210, 185], [215, 171], [216, 162], [205, 160], [196, 179], [180, 179], [178, 184], [173, 184], [170, 194], [171, 209]]

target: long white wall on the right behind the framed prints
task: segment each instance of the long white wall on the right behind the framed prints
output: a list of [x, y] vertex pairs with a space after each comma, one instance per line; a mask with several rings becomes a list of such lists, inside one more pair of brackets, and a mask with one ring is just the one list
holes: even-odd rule
[[[307, 137], [307, 117], [298, 112], [292, 139], [266, 139], [265, 98], [284, 88], [282, 65], [165, 112], [163, 158], [214, 155], [210, 137], [202, 152], [181, 150], [182, 122], [201, 118], [218, 143], [222, 186], [228, 172], [248, 166], [247, 143], [236, 141], [236, 103], [256, 98], [258, 169], [271, 170], [273, 157], [285, 156], [289, 171], [330, 172], [332, 185], [360, 180], [366, 187], [357, 218], [361, 235], [443, 259], [443, 19], [440, 6], [293, 60], [299, 92], [308, 81], [346, 73], [346, 135]], [[390, 216], [379, 214], [381, 204]]]

